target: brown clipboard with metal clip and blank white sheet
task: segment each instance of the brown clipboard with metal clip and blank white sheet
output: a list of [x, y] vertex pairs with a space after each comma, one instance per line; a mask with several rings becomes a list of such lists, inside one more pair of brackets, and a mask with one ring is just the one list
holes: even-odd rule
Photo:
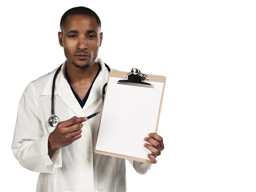
[[111, 70], [94, 152], [150, 163], [144, 137], [157, 133], [165, 83], [165, 76], [136, 68], [130, 73]]

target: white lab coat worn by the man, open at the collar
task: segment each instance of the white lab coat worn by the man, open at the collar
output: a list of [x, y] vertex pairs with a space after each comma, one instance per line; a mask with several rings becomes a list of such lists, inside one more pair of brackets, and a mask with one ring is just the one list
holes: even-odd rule
[[[81, 108], [65, 78], [66, 62], [55, 81], [55, 114], [60, 121], [73, 116], [89, 116], [102, 109], [102, 87], [108, 81], [108, 70], [100, 58], [101, 71], [90, 95]], [[51, 116], [52, 80], [57, 68], [29, 83], [19, 105], [12, 152], [21, 166], [40, 172], [37, 192], [126, 192], [125, 159], [94, 153], [100, 116], [83, 122], [82, 137], [59, 148], [50, 159], [48, 137], [54, 130]], [[129, 161], [145, 174], [151, 163]]]

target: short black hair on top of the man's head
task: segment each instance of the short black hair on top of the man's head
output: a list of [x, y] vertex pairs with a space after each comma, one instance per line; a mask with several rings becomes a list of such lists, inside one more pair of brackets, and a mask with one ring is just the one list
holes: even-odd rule
[[89, 15], [92, 16], [96, 19], [97, 21], [97, 25], [99, 26], [99, 28], [101, 28], [101, 22], [100, 19], [98, 17], [98, 15], [91, 9], [87, 8], [87, 7], [73, 7], [69, 10], [67, 10], [61, 17], [61, 23], [60, 23], [60, 27], [61, 27], [61, 32], [62, 32], [62, 26], [64, 26], [67, 17], [71, 16], [71, 15]]

